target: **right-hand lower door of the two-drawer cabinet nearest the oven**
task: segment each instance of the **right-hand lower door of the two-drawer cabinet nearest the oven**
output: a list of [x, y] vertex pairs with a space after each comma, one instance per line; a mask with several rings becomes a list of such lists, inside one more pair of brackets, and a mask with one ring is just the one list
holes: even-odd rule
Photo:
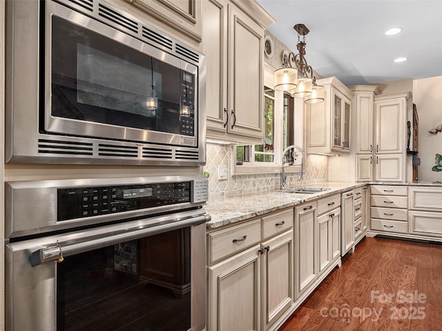
[[262, 243], [261, 248], [261, 317], [262, 330], [267, 330], [294, 302], [293, 229]]

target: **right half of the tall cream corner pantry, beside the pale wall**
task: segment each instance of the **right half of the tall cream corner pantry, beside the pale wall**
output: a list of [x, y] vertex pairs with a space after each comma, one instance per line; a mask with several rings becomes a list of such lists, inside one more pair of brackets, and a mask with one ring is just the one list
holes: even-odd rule
[[407, 108], [411, 93], [377, 95], [375, 105], [375, 181], [405, 181]]

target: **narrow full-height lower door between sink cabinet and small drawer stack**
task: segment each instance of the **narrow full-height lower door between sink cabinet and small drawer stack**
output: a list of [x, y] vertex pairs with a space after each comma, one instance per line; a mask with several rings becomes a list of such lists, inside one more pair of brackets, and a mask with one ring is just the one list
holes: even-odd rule
[[345, 255], [354, 245], [354, 194], [353, 191], [341, 195], [341, 254]]

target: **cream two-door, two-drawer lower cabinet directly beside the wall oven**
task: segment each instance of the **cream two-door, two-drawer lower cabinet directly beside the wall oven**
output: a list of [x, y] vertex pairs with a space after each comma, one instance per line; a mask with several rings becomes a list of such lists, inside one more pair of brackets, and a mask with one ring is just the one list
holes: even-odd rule
[[293, 221], [290, 208], [209, 232], [207, 330], [271, 330], [291, 308]]

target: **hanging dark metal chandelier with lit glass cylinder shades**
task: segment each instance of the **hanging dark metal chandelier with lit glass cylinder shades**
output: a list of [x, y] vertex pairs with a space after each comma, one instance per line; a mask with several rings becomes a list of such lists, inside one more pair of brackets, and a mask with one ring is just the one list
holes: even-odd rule
[[296, 24], [294, 29], [298, 32], [298, 54], [282, 54], [282, 68], [274, 74], [275, 90], [290, 92], [292, 97], [305, 98], [305, 103], [323, 102], [324, 87], [316, 84], [313, 69], [305, 59], [305, 35], [309, 33], [309, 29], [304, 24]]

